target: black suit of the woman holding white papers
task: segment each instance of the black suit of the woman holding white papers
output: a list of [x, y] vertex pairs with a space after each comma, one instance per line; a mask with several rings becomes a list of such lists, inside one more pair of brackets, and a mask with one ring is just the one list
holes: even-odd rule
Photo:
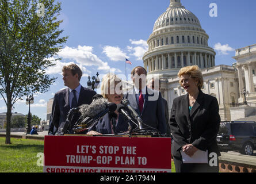
[[208, 164], [206, 164], [208, 167], [205, 165], [201, 167], [202, 170], [200, 170], [201, 168], [196, 170], [196, 166], [200, 164], [183, 164], [179, 151], [184, 145], [193, 144], [199, 150], [208, 150], [208, 154], [215, 152], [217, 156], [220, 156], [216, 141], [219, 127], [219, 105], [215, 97], [204, 94], [200, 90], [190, 112], [188, 94], [175, 98], [171, 109], [170, 128], [174, 140], [171, 152], [174, 163], [176, 161], [176, 170], [181, 172], [211, 171]]

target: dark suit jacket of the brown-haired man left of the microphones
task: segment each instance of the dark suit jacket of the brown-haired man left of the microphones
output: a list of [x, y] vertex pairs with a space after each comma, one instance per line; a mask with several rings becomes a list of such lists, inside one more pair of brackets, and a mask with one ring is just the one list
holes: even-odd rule
[[[55, 135], [56, 132], [61, 132], [61, 128], [64, 127], [67, 114], [70, 111], [70, 103], [68, 99], [69, 93], [70, 92], [68, 87], [55, 93], [54, 103], [52, 104], [52, 116], [49, 122], [48, 135]], [[81, 86], [78, 98], [78, 106], [83, 104], [91, 104], [92, 98], [95, 94], [95, 91]], [[74, 114], [72, 124], [77, 122], [79, 115], [79, 113]]]

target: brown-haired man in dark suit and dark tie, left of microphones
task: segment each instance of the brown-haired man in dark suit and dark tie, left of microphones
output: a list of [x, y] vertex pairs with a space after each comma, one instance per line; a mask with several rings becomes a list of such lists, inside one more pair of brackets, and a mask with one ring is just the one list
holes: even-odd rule
[[[58, 91], [54, 95], [48, 135], [61, 133], [70, 109], [77, 108], [83, 104], [91, 104], [92, 98], [96, 94], [95, 91], [81, 86], [82, 71], [76, 64], [64, 66], [62, 75], [64, 85], [67, 88]], [[74, 125], [78, 118], [79, 114], [75, 113], [71, 124]], [[69, 131], [72, 133], [71, 129]]]

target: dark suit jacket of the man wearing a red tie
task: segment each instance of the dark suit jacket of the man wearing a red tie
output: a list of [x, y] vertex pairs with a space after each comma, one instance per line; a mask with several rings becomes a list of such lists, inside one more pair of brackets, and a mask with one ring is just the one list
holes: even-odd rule
[[[140, 114], [144, 124], [147, 124], [152, 128], [156, 128], [162, 134], [165, 134], [166, 121], [163, 110], [162, 95], [159, 91], [152, 91], [151, 89], [148, 89], [148, 87], [146, 91], [142, 113], [140, 113], [139, 102], [137, 101], [134, 89], [124, 95], [124, 98], [128, 99], [132, 108]], [[158, 98], [155, 99], [155, 97]]]

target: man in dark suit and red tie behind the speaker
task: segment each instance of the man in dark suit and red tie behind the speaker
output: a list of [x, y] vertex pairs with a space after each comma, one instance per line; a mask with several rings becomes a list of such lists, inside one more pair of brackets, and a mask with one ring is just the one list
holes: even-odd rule
[[136, 110], [143, 123], [158, 129], [161, 134], [166, 133], [165, 114], [162, 105], [162, 96], [159, 91], [153, 91], [146, 86], [147, 71], [143, 67], [135, 67], [131, 72], [134, 87], [124, 98]]

